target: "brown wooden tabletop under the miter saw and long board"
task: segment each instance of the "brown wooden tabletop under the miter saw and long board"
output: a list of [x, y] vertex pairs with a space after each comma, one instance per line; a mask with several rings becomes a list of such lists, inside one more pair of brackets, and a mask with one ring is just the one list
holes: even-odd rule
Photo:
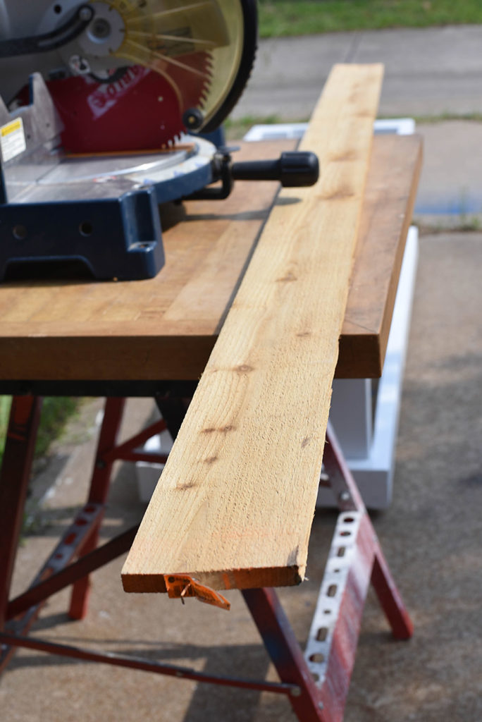
[[[292, 147], [244, 143], [237, 156]], [[337, 375], [380, 375], [419, 157], [415, 137], [374, 138]], [[276, 191], [237, 183], [226, 201], [186, 204], [185, 219], [165, 232], [167, 262], [155, 279], [0, 284], [0, 378], [199, 378]]]

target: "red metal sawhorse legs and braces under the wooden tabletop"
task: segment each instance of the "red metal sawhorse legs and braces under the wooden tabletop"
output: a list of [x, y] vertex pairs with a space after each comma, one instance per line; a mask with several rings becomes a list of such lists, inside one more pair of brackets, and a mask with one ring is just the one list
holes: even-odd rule
[[16, 396], [12, 401], [0, 474], [0, 670], [8, 664], [14, 648], [25, 647], [198, 682], [275, 692], [289, 697], [300, 722], [341, 721], [369, 583], [374, 586], [395, 638], [410, 638], [412, 625], [362, 498], [330, 429], [323, 464], [327, 483], [338, 499], [340, 514], [305, 653], [294, 637], [276, 591], [268, 588], [242, 591], [280, 682], [208, 675], [185, 667], [94, 653], [28, 636], [45, 599], [67, 586], [72, 586], [69, 615], [74, 619], [84, 617], [89, 574], [128, 551], [136, 534], [136, 528], [128, 529], [97, 547], [113, 462], [116, 459], [164, 461], [158, 454], [136, 450], [166, 424], [175, 436], [188, 404], [186, 399], [172, 394], [157, 399], [166, 420], [118, 444], [124, 401], [120, 397], [106, 400], [87, 503], [32, 585], [15, 599], [9, 599], [41, 406], [36, 396]]

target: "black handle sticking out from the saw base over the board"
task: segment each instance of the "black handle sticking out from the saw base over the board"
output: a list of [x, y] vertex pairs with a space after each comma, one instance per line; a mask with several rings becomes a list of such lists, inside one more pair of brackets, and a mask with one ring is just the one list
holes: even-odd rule
[[285, 151], [277, 160], [251, 160], [233, 163], [234, 181], [281, 181], [284, 188], [313, 186], [320, 168], [315, 153]]

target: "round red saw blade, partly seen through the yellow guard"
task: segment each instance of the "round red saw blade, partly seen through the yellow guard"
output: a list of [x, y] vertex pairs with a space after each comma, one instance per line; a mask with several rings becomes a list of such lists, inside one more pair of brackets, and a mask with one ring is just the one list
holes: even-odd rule
[[[239, 0], [229, 0], [228, 6], [238, 5]], [[230, 17], [222, 9], [222, 0], [93, 0], [92, 6], [97, 25], [94, 19], [85, 38], [79, 38], [76, 57], [92, 67], [98, 67], [101, 58], [107, 78], [112, 67], [113, 81], [98, 82], [95, 75], [84, 74], [49, 83], [65, 126], [62, 141], [66, 149], [100, 152], [165, 147], [182, 134], [185, 113], [192, 117], [193, 110], [197, 125], [205, 124], [215, 105], [213, 52], [224, 49], [222, 67], [226, 69], [226, 49], [237, 50], [231, 38], [238, 28], [229, 31]], [[119, 22], [123, 24], [121, 43]], [[105, 37], [99, 33], [96, 51], [97, 27]], [[111, 48], [113, 30], [115, 47]], [[125, 63], [121, 71], [119, 62]], [[217, 69], [216, 97], [227, 83], [224, 72]]]

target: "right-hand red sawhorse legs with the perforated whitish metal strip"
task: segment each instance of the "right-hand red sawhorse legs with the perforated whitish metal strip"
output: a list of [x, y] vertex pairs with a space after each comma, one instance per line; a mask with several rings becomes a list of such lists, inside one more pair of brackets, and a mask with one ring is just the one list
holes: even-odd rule
[[370, 582], [395, 639], [406, 640], [413, 632], [362, 497], [330, 428], [323, 465], [341, 513], [304, 655], [273, 589], [242, 592], [280, 679], [299, 687], [299, 695], [290, 695], [290, 701], [300, 722], [343, 720]]

